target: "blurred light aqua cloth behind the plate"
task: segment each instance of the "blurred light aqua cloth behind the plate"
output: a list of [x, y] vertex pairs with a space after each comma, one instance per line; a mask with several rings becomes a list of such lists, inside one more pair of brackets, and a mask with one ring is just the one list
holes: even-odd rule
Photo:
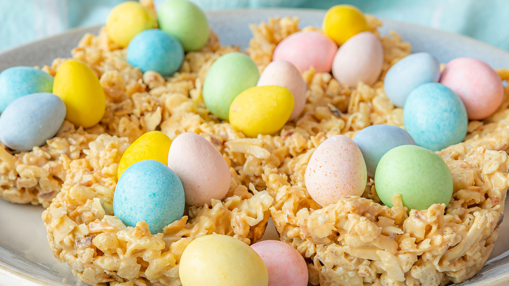
[[[76, 27], [103, 24], [124, 0], [0, 0], [0, 52]], [[154, 0], [156, 8], [165, 0]], [[509, 0], [190, 0], [203, 10], [357, 6], [380, 18], [463, 34], [509, 51]]]

